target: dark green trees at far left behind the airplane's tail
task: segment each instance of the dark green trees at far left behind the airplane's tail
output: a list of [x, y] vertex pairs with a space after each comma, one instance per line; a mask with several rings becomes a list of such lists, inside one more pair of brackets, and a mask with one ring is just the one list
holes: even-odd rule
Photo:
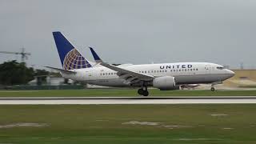
[[[34, 79], [35, 76], [48, 75], [49, 71], [34, 70], [32, 67], [26, 67], [24, 62], [3, 62], [0, 64], [0, 84], [4, 86], [24, 85]], [[42, 81], [46, 76], [42, 77]]]

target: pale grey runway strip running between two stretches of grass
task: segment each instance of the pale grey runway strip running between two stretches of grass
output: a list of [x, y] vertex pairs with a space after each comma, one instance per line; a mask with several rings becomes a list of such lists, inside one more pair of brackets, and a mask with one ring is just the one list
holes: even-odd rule
[[103, 105], [103, 104], [242, 104], [256, 96], [206, 97], [45, 97], [0, 98], [0, 105]]

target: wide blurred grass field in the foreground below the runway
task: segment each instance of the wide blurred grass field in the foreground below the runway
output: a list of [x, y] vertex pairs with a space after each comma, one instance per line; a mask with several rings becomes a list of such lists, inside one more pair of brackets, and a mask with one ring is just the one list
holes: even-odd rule
[[[0, 106], [1, 126], [49, 125], [0, 128], [0, 143], [255, 143], [255, 111], [253, 104]], [[122, 124], [130, 121], [161, 123]]]

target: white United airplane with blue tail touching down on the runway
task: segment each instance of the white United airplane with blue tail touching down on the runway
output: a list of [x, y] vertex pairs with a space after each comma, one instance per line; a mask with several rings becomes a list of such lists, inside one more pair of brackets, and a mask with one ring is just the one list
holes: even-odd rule
[[114, 66], [104, 62], [92, 47], [90, 51], [95, 62], [90, 62], [59, 32], [53, 32], [54, 41], [62, 62], [58, 70], [62, 77], [98, 86], [138, 87], [138, 94], [148, 96], [148, 87], [159, 90], [179, 90], [188, 84], [214, 85], [234, 76], [234, 72], [224, 66], [210, 62], [176, 62]]

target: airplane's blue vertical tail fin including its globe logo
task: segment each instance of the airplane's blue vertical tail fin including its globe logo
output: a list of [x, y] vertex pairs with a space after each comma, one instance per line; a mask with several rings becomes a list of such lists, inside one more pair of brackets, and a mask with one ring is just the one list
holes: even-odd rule
[[64, 70], [74, 70], [91, 67], [86, 58], [72, 46], [61, 32], [53, 32], [54, 41], [58, 49], [59, 58]]

